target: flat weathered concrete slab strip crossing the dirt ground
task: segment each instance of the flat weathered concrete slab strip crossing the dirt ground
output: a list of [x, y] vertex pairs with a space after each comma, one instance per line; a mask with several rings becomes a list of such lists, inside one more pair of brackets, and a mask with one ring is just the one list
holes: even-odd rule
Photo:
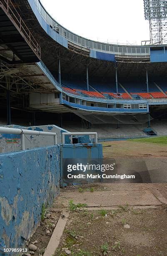
[[69, 200], [75, 204], [86, 203], [88, 207], [116, 205], [162, 205], [149, 189], [142, 191], [96, 191], [96, 192], [62, 192], [61, 203], [68, 205]]

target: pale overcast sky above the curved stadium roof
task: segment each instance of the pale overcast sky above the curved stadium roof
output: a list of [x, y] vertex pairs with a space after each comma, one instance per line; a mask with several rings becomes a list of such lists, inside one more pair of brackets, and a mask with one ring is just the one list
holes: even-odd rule
[[88, 39], [141, 44], [150, 40], [143, 0], [41, 0], [52, 18]]

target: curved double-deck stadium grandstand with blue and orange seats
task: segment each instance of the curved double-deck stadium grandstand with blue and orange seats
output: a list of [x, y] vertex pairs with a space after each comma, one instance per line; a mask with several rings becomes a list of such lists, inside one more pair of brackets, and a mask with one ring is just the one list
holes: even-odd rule
[[40, 0], [0, 0], [0, 125], [52, 122], [99, 138], [167, 134], [162, 39], [92, 41], [61, 26]]

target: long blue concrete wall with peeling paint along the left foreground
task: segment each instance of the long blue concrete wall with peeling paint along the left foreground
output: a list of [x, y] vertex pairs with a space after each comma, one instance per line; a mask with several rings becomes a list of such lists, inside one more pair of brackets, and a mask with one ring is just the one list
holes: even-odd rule
[[24, 247], [59, 186], [59, 145], [0, 154], [0, 249]]

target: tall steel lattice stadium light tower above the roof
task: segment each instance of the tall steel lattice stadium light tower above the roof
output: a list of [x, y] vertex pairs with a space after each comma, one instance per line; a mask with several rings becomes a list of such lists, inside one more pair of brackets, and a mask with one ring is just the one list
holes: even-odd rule
[[167, 44], [167, 0], [144, 0], [145, 20], [150, 22], [150, 43]]

